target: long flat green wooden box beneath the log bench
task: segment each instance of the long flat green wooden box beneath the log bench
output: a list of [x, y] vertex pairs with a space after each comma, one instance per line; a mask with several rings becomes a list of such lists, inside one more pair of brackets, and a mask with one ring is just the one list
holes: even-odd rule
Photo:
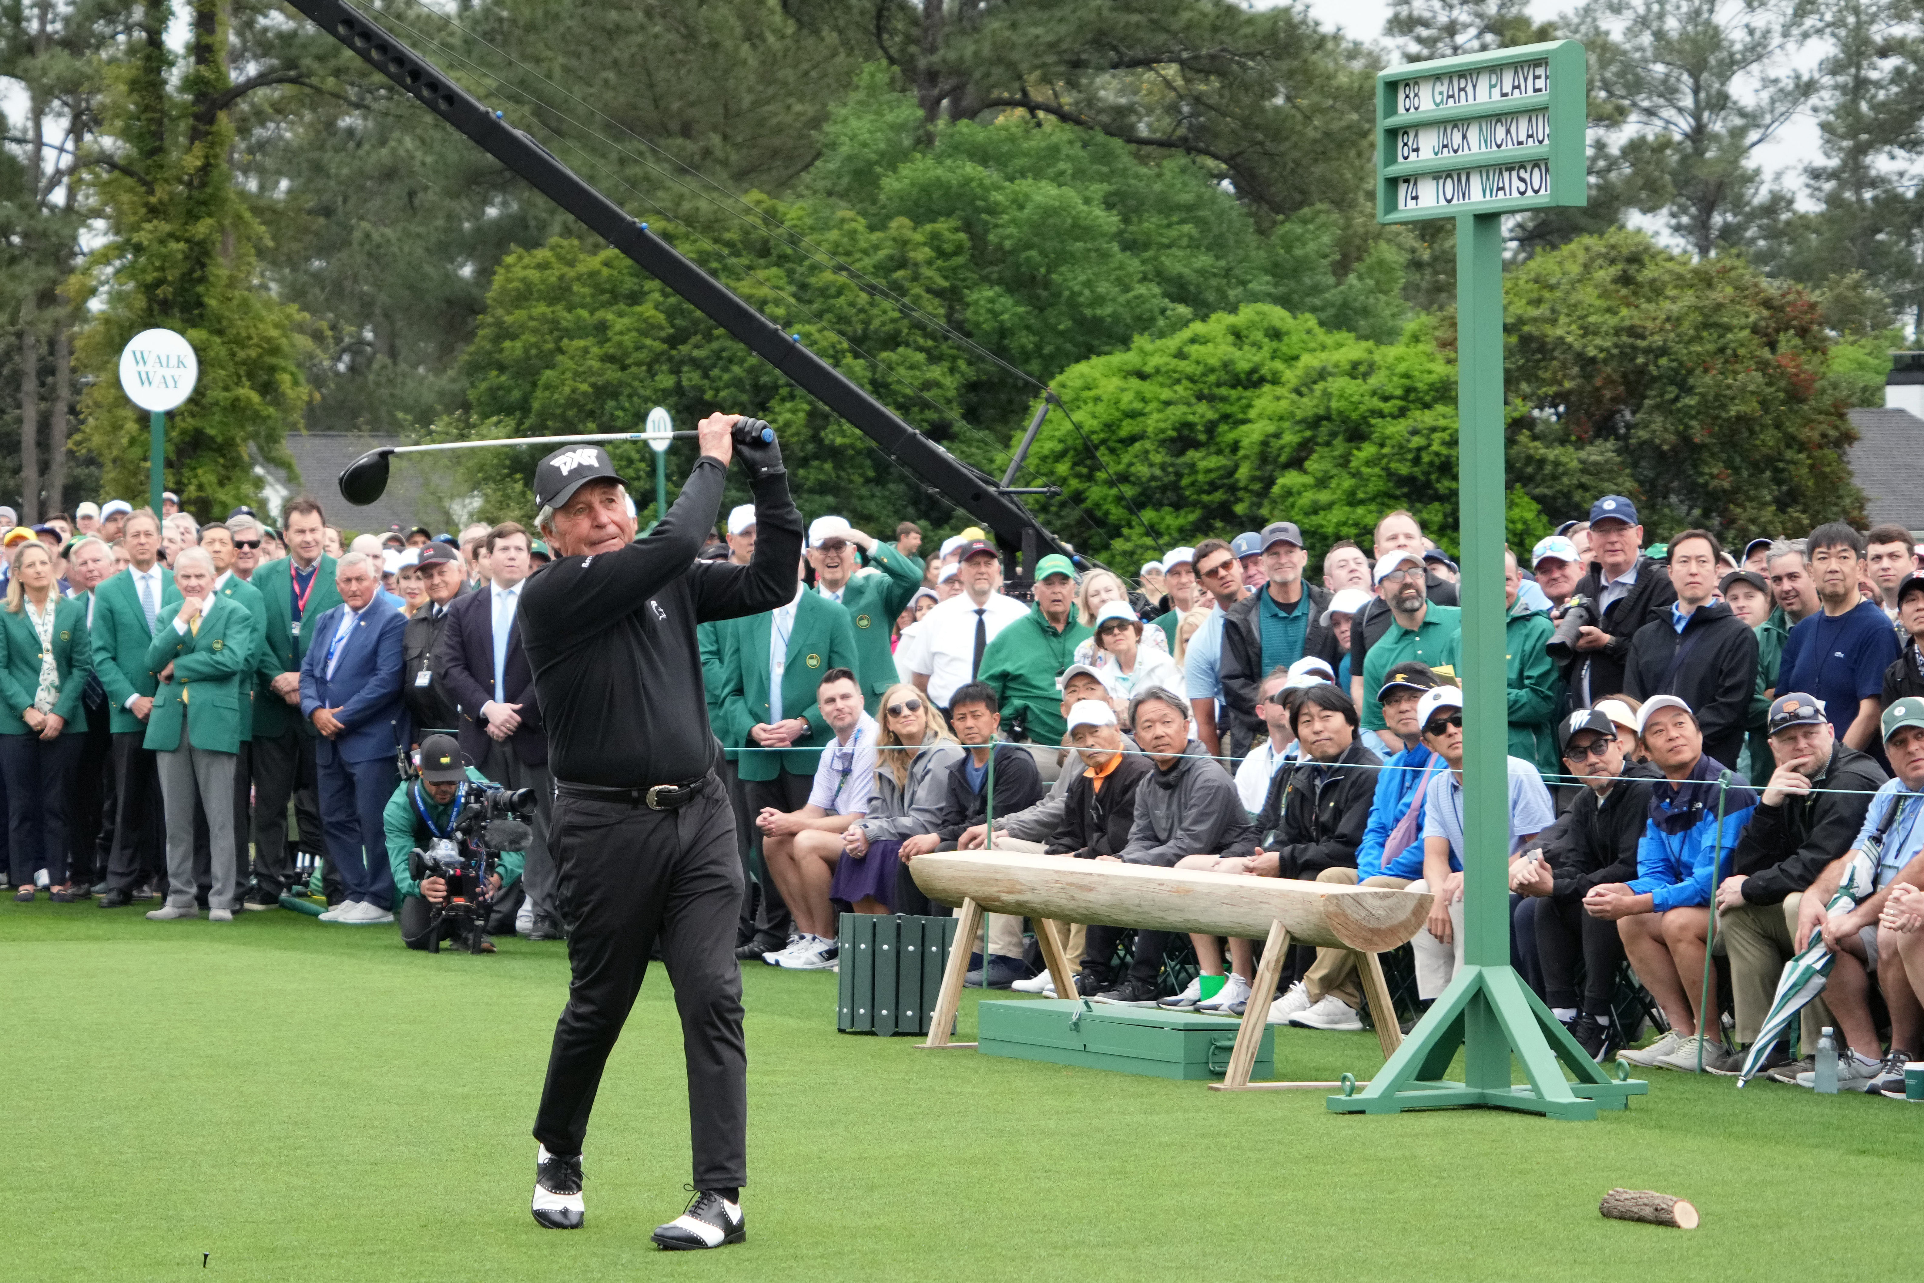
[[[1081, 998], [1006, 998], [975, 1008], [975, 1043], [985, 1056], [1189, 1081], [1228, 1073], [1237, 1027], [1239, 1021], [1222, 1016]], [[1274, 1025], [1262, 1029], [1253, 1075], [1276, 1075]]]

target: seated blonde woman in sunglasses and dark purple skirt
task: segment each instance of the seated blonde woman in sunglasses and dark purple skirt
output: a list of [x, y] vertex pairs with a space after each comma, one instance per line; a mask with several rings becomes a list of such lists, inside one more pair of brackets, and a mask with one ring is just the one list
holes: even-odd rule
[[862, 821], [843, 833], [843, 858], [829, 883], [829, 898], [847, 900], [856, 914], [895, 912], [897, 852], [904, 839], [935, 833], [949, 798], [949, 773], [962, 760], [962, 744], [949, 733], [941, 710], [906, 683], [881, 696], [881, 739], [875, 742], [881, 746], [875, 796]]

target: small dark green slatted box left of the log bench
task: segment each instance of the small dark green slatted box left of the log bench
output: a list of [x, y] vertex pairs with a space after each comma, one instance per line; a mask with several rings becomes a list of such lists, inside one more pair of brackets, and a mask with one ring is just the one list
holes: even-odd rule
[[958, 918], [843, 914], [835, 943], [841, 1033], [927, 1033]]

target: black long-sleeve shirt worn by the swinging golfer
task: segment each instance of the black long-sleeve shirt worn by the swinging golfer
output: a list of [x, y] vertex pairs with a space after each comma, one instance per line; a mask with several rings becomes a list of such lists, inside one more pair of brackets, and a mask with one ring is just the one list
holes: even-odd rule
[[652, 535], [558, 558], [521, 589], [521, 641], [556, 779], [641, 789], [708, 773], [718, 746], [695, 625], [787, 604], [802, 556], [802, 514], [777, 473], [752, 483], [750, 562], [696, 562], [725, 481], [704, 454]]

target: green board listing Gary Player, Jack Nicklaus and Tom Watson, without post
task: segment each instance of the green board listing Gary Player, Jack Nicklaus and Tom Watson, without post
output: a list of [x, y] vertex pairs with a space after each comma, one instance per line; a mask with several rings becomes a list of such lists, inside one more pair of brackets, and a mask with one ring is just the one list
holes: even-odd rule
[[1583, 204], [1585, 71], [1551, 40], [1380, 73], [1378, 221]]

